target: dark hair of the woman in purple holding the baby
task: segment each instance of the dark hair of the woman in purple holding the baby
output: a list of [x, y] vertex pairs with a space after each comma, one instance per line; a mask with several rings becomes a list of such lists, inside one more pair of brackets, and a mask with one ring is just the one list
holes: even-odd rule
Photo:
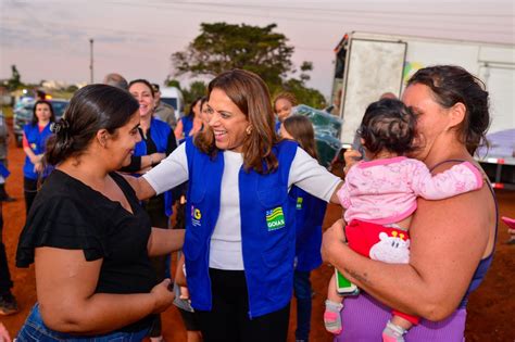
[[444, 109], [456, 103], [465, 105], [465, 118], [457, 132], [468, 153], [474, 154], [478, 147], [487, 144], [489, 99], [485, 84], [479, 78], [461, 66], [437, 65], [417, 71], [407, 81], [407, 87], [416, 84], [429, 87], [435, 100]]

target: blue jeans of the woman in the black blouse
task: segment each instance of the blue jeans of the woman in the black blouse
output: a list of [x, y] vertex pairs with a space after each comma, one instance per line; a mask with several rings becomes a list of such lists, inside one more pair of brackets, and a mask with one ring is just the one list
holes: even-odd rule
[[140, 342], [148, 334], [149, 329], [143, 329], [136, 332], [111, 332], [101, 335], [89, 335], [89, 337], [79, 337], [72, 335], [64, 332], [59, 332], [51, 330], [45, 326], [41, 314], [39, 313], [39, 304], [36, 303], [30, 314], [28, 315], [25, 324], [20, 330], [16, 341], [17, 342], [28, 342], [28, 341], [42, 341], [42, 342], [53, 342], [53, 341], [76, 341], [76, 342]]

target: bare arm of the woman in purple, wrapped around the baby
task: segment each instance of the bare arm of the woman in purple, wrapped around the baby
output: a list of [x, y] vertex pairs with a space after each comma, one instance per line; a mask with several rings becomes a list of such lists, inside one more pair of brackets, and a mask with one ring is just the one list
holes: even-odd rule
[[343, 225], [324, 235], [323, 257], [378, 301], [429, 320], [460, 304], [493, 242], [494, 204], [487, 187], [442, 201], [418, 200], [410, 264], [368, 259], [342, 243]]

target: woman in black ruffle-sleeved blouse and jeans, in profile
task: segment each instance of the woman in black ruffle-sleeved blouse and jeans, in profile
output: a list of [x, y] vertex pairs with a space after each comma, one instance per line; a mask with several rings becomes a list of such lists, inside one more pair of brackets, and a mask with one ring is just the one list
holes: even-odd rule
[[21, 233], [16, 265], [35, 263], [38, 303], [17, 341], [141, 341], [172, 304], [149, 255], [177, 250], [179, 230], [154, 229], [129, 185], [138, 103], [104, 85], [78, 90], [53, 126], [47, 157], [56, 165]]

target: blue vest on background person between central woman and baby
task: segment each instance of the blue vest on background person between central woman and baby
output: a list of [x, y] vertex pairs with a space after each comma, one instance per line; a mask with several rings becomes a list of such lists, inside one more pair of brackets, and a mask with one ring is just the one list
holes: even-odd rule
[[290, 197], [296, 201], [296, 269], [310, 271], [322, 265], [322, 223], [327, 203], [293, 186]]

